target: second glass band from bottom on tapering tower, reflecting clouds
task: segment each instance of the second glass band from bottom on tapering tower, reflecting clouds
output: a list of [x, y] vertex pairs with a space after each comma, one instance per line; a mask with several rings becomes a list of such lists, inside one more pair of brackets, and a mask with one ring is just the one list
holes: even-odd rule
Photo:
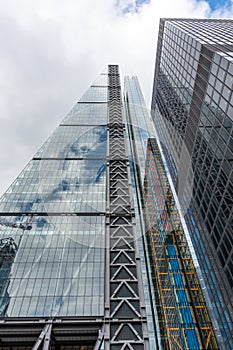
[[[0, 203], [2, 211], [33, 211], [39, 210], [38, 208], [44, 205], [49, 205], [50, 210], [56, 210], [55, 207], [58, 208], [63, 204], [73, 208], [75, 201], [77, 206], [83, 208], [85, 204], [92, 205], [97, 202], [103, 207], [106, 191], [104, 161], [51, 160], [30, 163], [32, 164], [25, 168], [2, 197]], [[33, 168], [38, 169], [38, 173], [33, 171]], [[34, 178], [27, 176], [30, 171], [31, 175], [36, 175]], [[53, 204], [55, 207], [51, 209]]]

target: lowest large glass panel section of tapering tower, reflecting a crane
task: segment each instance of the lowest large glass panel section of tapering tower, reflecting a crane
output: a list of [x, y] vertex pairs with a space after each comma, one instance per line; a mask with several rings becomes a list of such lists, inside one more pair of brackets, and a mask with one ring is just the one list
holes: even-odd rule
[[[50, 316], [54, 310], [65, 316], [64, 308], [75, 297], [74, 309], [82, 304], [85, 315], [92, 307], [102, 314], [104, 217], [2, 217], [0, 224], [1, 249], [4, 237], [11, 237], [10, 244], [15, 245], [14, 254], [8, 246], [2, 251], [0, 310], [8, 316]], [[47, 298], [56, 307], [42, 311]]]

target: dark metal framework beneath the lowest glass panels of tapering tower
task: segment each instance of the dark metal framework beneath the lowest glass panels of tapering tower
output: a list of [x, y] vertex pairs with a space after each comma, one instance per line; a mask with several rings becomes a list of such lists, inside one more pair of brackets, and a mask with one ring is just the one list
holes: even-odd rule
[[98, 350], [103, 319], [11, 318], [0, 322], [0, 350]]

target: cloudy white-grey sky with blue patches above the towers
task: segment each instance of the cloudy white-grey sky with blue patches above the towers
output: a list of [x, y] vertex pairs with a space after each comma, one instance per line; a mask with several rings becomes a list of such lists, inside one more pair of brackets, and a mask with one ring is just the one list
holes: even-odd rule
[[150, 105], [160, 17], [233, 18], [230, 0], [1, 0], [0, 195], [108, 64]]

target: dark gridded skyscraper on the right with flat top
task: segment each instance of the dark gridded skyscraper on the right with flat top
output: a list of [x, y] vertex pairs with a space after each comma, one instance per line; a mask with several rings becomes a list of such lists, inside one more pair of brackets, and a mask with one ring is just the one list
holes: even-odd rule
[[232, 33], [232, 20], [161, 19], [152, 96], [222, 349], [233, 349]]

